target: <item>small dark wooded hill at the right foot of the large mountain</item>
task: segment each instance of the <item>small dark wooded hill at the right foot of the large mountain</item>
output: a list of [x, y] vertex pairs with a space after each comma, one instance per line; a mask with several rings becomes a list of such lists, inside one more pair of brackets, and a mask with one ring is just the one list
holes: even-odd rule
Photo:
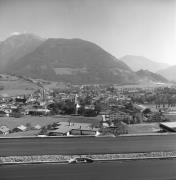
[[154, 82], [154, 83], [167, 83], [168, 80], [160, 74], [153, 73], [148, 70], [139, 70], [136, 72], [137, 76], [140, 77], [142, 83]]

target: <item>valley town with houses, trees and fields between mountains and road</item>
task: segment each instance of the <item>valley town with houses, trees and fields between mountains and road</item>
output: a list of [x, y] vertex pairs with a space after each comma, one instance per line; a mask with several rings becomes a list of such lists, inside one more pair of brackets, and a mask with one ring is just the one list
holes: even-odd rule
[[42, 81], [29, 80], [38, 89], [28, 94], [1, 94], [1, 136], [117, 136], [175, 131], [174, 86], [67, 84], [47, 89]]

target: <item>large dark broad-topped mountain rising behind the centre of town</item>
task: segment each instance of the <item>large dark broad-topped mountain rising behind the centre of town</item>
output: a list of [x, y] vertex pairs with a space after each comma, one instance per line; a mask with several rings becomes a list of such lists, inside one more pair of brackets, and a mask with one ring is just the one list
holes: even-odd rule
[[98, 45], [81, 39], [44, 41], [6, 68], [32, 78], [80, 83], [135, 83], [136, 74]]

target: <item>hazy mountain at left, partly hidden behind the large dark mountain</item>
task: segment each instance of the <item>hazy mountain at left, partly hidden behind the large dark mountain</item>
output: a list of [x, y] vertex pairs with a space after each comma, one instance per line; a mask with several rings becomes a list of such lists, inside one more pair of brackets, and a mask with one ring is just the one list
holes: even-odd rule
[[43, 39], [34, 34], [12, 35], [0, 43], [0, 71], [4, 71], [8, 64], [34, 51], [43, 43]]

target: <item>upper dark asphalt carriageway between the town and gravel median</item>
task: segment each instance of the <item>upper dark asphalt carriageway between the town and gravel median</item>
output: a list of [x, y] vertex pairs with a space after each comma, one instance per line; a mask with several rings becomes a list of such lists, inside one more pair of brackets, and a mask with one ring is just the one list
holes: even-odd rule
[[176, 135], [0, 139], [0, 156], [176, 151]]

